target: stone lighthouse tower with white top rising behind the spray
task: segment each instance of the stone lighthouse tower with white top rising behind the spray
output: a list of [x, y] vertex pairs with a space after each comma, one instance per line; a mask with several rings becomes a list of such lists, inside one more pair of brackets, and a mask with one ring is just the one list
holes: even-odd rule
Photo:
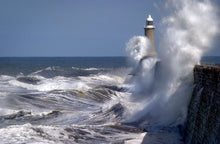
[[148, 18], [146, 20], [146, 26], [144, 27], [145, 36], [150, 40], [151, 42], [151, 49], [148, 51], [147, 56], [157, 56], [157, 52], [155, 49], [155, 43], [154, 43], [154, 30], [155, 26], [153, 25], [153, 18], [151, 15], [148, 15]]

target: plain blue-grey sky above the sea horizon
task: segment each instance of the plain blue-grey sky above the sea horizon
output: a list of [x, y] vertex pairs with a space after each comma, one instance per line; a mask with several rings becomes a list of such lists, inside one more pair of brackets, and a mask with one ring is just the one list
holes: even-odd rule
[[[157, 46], [163, 1], [0, 0], [0, 57], [125, 56], [149, 13]], [[207, 55], [220, 55], [218, 46]]]

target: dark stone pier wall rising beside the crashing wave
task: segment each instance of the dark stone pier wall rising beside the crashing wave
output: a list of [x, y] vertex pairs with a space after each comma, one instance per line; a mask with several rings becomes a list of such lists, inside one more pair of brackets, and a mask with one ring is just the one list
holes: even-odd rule
[[196, 65], [194, 83], [185, 143], [220, 144], [220, 65]]

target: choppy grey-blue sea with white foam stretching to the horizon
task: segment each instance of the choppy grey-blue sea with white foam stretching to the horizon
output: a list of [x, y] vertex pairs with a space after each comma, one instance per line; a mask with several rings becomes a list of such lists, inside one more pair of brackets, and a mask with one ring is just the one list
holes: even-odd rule
[[0, 143], [164, 143], [123, 123], [130, 71], [125, 57], [0, 58]]

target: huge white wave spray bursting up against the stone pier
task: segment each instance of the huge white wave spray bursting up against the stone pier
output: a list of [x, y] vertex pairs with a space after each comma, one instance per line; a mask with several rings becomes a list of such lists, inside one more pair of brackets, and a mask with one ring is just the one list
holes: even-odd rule
[[150, 41], [135, 36], [126, 51], [134, 64], [133, 85], [127, 106], [127, 122], [146, 125], [178, 125], [187, 115], [193, 88], [193, 67], [212, 47], [218, 35], [216, 7], [209, 0], [167, 0], [168, 14], [161, 21], [163, 35], [158, 57], [142, 59]]

